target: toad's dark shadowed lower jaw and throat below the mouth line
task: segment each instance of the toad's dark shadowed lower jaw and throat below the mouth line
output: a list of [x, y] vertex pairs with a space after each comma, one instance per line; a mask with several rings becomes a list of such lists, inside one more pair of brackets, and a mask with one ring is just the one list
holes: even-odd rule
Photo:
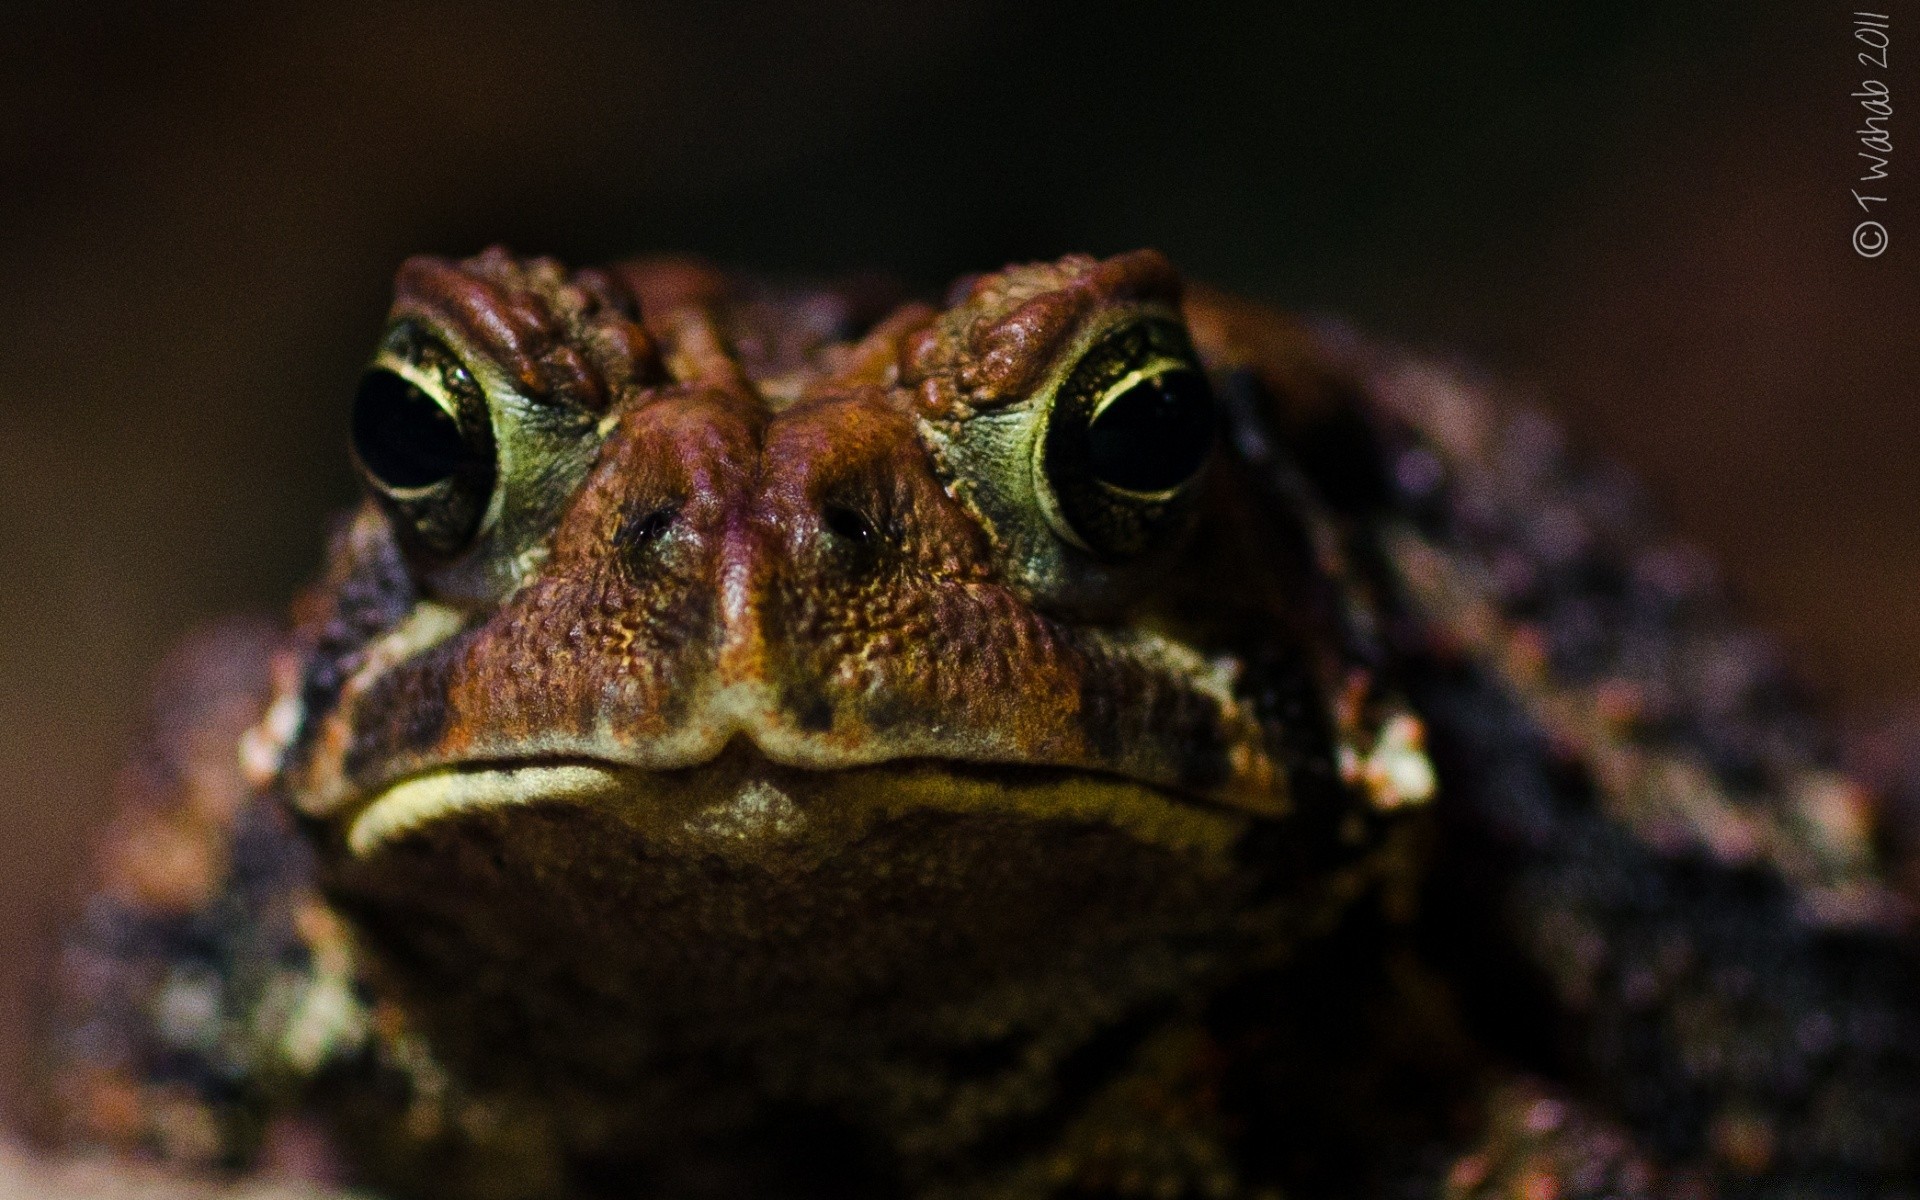
[[324, 887], [468, 1083], [628, 1104], [732, 1064], [745, 1092], [870, 1110], [904, 1079], [881, 1058], [1066, 1054], [1284, 948], [1344, 900], [1269, 887], [1246, 849], [1273, 820], [1058, 768], [518, 760], [378, 791]]

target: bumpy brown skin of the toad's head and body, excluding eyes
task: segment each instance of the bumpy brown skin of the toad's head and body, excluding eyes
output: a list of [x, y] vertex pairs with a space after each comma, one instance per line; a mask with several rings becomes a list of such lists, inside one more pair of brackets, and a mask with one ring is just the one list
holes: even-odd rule
[[[492, 507], [447, 551], [369, 501], [284, 641], [188, 657], [63, 960], [67, 1144], [451, 1198], [1916, 1187], [1870, 799], [1461, 376], [1148, 252], [947, 309], [488, 252], [394, 317], [486, 392]], [[1221, 438], [1098, 553], [1031, 440], [1135, 326]]]

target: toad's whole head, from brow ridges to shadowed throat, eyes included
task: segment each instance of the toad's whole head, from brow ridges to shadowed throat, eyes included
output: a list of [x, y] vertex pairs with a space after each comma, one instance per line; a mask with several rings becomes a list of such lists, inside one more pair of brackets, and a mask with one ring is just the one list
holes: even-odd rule
[[407, 263], [269, 724], [453, 1058], [1085, 1033], [1338, 910], [1340, 588], [1215, 328], [1144, 252]]

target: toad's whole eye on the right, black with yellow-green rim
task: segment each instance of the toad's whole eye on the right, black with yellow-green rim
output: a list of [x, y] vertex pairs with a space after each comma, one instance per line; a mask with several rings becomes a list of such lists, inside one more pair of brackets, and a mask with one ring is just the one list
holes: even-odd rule
[[1035, 493], [1054, 534], [1127, 559], [1185, 526], [1213, 453], [1213, 392], [1187, 332], [1146, 319], [1098, 338], [1068, 371], [1035, 442]]

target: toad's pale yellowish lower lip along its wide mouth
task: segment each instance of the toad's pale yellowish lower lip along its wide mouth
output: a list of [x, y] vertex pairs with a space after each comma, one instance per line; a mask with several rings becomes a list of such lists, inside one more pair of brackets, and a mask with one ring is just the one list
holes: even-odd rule
[[[793, 795], [804, 797], [795, 804]], [[378, 789], [348, 822], [355, 858], [428, 826], [515, 806], [605, 806], [639, 833], [703, 845], [791, 835], [816, 822], [841, 835], [902, 812], [998, 814], [1098, 822], [1152, 843], [1223, 851], [1250, 812], [1144, 780], [1062, 766], [900, 758], [820, 772], [730, 758], [655, 772], [599, 758], [461, 762]]]

